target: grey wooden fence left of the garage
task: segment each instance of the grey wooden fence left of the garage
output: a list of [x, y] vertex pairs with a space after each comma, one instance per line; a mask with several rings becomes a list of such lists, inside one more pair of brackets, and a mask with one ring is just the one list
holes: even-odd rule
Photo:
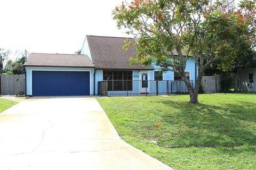
[[25, 74], [0, 75], [1, 95], [17, 95], [25, 92]]

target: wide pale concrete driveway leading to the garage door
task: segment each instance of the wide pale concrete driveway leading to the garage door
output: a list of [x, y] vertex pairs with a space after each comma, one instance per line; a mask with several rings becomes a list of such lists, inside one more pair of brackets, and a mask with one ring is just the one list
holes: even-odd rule
[[121, 140], [95, 98], [30, 98], [0, 114], [0, 169], [171, 169]]

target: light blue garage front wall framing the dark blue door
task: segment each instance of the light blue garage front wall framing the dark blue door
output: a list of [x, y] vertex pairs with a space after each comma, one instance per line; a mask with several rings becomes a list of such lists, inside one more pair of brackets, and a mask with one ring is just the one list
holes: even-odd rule
[[27, 95], [32, 94], [32, 71], [90, 71], [90, 95], [93, 95], [93, 73], [94, 69], [91, 68], [57, 68], [57, 67], [26, 67], [26, 83], [27, 83]]

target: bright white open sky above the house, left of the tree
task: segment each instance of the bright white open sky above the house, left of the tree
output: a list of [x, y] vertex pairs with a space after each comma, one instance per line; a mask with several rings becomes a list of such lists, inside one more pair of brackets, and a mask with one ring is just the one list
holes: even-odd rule
[[122, 0], [0, 0], [0, 48], [74, 53], [85, 35], [121, 36], [111, 11]]

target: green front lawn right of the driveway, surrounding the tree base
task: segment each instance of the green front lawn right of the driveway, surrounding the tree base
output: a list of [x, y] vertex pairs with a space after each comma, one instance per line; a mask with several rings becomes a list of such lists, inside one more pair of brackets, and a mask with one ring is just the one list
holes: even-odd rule
[[[255, 169], [256, 95], [98, 98], [123, 140], [174, 169]], [[161, 123], [161, 128], [157, 128]]]

